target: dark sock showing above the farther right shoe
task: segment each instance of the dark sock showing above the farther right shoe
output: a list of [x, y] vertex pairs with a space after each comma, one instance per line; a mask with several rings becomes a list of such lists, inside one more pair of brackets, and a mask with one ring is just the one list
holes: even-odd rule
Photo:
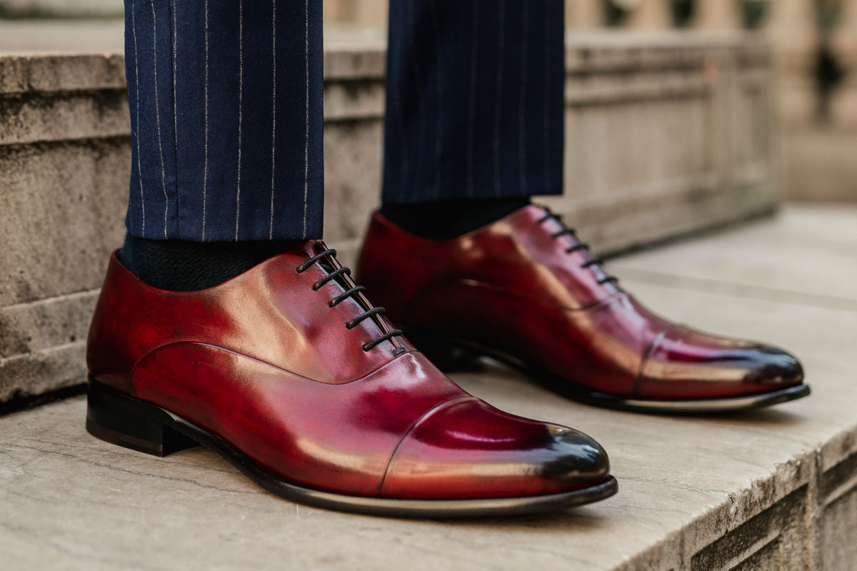
[[530, 204], [529, 198], [437, 200], [381, 205], [381, 216], [423, 238], [443, 240], [481, 228]]

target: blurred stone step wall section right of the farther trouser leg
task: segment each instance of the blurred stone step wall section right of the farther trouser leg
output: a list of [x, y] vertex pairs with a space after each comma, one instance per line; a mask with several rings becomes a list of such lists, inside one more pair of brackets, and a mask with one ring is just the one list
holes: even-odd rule
[[770, 51], [740, 34], [691, 37], [699, 44], [678, 33], [570, 43], [566, 194], [550, 204], [602, 250], [776, 204]]

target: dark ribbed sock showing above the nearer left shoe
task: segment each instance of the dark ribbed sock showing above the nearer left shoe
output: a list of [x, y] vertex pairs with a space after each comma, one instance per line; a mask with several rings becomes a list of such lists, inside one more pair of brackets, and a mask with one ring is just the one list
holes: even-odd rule
[[194, 291], [224, 283], [301, 242], [192, 242], [125, 235], [118, 257], [153, 288]]

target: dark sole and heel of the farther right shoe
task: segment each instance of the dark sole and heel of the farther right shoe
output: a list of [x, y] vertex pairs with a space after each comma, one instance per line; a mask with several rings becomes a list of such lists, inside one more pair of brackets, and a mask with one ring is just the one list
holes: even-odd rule
[[444, 372], [471, 368], [474, 360], [483, 356], [489, 357], [523, 373], [529, 378], [533, 378], [548, 390], [572, 399], [572, 401], [583, 402], [584, 404], [596, 407], [613, 408], [636, 413], [730, 413], [750, 408], [770, 407], [782, 402], [794, 401], [804, 396], [809, 396], [812, 392], [809, 385], [798, 384], [787, 389], [774, 390], [757, 395], [676, 400], [627, 398], [592, 390], [582, 384], [573, 383], [535, 363], [519, 359], [504, 351], [485, 347], [479, 343], [438, 336], [434, 333], [426, 333], [419, 330], [408, 330], [406, 334], [408, 339], [419, 350], [423, 351], [434, 365], [438, 366]]

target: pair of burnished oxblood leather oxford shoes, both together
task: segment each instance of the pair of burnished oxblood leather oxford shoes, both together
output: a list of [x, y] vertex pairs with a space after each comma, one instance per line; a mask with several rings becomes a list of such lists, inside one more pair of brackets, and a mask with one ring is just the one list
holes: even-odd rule
[[470, 396], [419, 349], [440, 366], [489, 355], [560, 395], [642, 412], [809, 394], [790, 354], [646, 310], [540, 206], [451, 240], [375, 214], [358, 273], [392, 322], [321, 241], [194, 292], [152, 288], [114, 254], [87, 346], [87, 430], [155, 455], [202, 444], [323, 508], [525, 514], [613, 495], [604, 449]]

